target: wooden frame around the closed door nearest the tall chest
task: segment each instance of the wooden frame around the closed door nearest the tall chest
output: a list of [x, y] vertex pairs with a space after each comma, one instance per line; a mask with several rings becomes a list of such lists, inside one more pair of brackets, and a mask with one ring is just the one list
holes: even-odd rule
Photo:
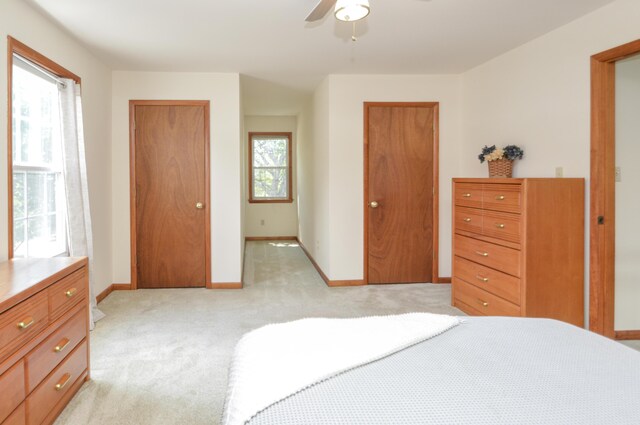
[[439, 258], [439, 138], [440, 138], [440, 102], [364, 102], [364, 284], [369, 284], [369, 109], [376, 106], [433, 108], [433, 266], [432, 283], [448, 283], [449, 279], [438, 276]]

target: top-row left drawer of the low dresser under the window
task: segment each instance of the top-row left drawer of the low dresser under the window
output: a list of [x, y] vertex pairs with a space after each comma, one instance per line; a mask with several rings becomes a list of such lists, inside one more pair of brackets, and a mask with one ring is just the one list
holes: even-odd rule
[[49, 321], [47, 294], [40, 292], [0, 315], [0, 361], [26, 344]]

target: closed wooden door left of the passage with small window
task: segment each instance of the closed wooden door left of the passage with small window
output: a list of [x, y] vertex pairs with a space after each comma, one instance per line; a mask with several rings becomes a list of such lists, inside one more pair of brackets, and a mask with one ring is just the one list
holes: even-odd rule
[[204, 105], [135, 105], [137, 287], [206, 281]]

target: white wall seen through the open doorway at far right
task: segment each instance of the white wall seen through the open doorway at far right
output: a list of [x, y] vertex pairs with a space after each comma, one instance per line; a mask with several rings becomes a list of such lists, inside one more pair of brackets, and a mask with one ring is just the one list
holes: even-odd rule
[[615, 329], [640, 329], [640, 55], [616, 63]]

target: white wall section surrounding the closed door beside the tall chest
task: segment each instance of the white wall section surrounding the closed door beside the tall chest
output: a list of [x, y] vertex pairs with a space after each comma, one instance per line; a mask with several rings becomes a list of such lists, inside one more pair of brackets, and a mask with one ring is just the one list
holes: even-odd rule
[[[451, 178], [459, 174], [457, 75], [332, 75], [330, 81], [331, 280], [363, 278], [363, 103], [440, 103], [440, 276], [451, 273]], [[326, 177], [325, 177], [326, 178]]]

